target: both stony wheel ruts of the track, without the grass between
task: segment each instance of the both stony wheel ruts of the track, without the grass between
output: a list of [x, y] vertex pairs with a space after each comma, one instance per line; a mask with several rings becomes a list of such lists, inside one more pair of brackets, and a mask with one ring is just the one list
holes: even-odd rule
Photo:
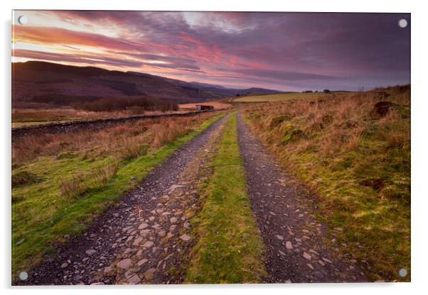
[[[44, 257], [17, 284], [180, 284], [186, 272], [197, 184], [228, 116], [173, 153], [92, 226]], [[324, 243], [314, 198], [291, 182], [237, 116], [247, 191], [266, 246], [267, 283], [367, 282], [352, 257]], [[209, 165], [208, 165], [209, 166]]]

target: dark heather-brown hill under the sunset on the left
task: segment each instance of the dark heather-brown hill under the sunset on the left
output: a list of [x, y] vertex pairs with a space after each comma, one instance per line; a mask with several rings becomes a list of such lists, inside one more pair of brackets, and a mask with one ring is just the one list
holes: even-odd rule
[[146, 96], [174, 103], [208, 101], [237, 94], [265, 94], [269, 89], [228, 89], [218, 85], [184, 82], [139, 72], [109, 71], [50, 62], [12, 63], [13, 106], [66, 106], [105, 96]]

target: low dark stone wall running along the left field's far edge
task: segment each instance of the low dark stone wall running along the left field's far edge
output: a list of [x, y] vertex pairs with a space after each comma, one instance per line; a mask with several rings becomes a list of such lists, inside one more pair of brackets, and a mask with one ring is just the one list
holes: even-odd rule
[[[214, 110], [223, 111], [223, 110]], [[35, 135], [44, 133], [68, 133], [82, 128], [97, 129], [114, 126], [118, 123], [132, 122], [150, 118], [164, 118], [164, 117], [185, 117], [195, 116], [200, 113], [207, 113], [212, 111], [191, 111], [188, 113], [163, 113], [159, 115], [139, 115], [119, 118], [99, 118], [90, 120], [75, 120], [75, 121], [63, 121], [55, 123], [47, 123], [33, 126], [22, 126], [12, 128], [12, 138], [18, 138], [25, 135]]]

